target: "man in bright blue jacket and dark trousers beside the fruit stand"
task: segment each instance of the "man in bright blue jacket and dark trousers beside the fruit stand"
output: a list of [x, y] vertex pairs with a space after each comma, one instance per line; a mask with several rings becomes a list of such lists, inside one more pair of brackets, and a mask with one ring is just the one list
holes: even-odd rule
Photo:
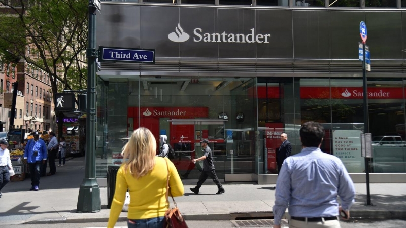
[[33, 133], [34, 138], [28, 140], [24, 150], [24, 159], [28, 162], [29, 175], [31, 177], [30, 190], [38, 191], [40, 189], [40, 169], [41, 165], [47, 160], [47, 145], [44, 140], [40, 140], [38, 131]]

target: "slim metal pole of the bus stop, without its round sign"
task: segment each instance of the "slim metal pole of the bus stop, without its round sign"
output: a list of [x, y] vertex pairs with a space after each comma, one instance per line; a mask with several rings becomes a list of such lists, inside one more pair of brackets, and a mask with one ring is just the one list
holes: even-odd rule
[[[364, 133], [369, 133], [369, 119], [368, 119], [368, 91], [366, 86], [366, 68], [365, 68], [365, 42], [362, 42], [363, 61], [362, 61], [362, 86], [364, 91]], [[369, 158], [365, 157], [365, 179], [366, 179], [366, 206], [371, 205], [371, 195], [369, 193]]]

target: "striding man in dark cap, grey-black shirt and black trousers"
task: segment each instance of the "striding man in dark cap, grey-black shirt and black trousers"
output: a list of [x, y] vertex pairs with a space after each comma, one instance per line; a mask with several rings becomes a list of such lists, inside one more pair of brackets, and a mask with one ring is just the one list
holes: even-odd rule
[[218, 192], [216, 194], [223, 194], [225, 190], [220, 183], [219, 178], [217, 178], [216, 171], [213, 164], [213, 155], [212, 150], [209, 147], [209, 140], [203, 139], [200, 141], [201, 147], [204, 148], [205, 154], [198, 159], [193, 159], [192, 162], [203, 161], [203, 171], [200, 174], [199, 182], [197, 182], [196, 187], [190, 188], [190, 190], [195, 193], [199, 194], [199, 189], [201, 185], [206, 181], [208, 177], [213, 179], [213, 182], [218, 187]]

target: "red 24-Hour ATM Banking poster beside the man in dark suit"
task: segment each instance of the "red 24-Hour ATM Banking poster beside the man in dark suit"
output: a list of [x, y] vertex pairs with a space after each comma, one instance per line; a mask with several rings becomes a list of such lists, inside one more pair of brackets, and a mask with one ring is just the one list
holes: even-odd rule
[[276, 150], [281, 146], [281, 134], [283, 133], [282, 123], [267, 123], [265, 130], [265, 151], [268, 158], [268, 173], [277, 173]]

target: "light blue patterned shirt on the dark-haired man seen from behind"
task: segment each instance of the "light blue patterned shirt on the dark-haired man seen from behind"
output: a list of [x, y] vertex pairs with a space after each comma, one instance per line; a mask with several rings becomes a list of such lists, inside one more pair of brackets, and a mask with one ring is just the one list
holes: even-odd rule
[[338, 216], [337, 196], [349, 210], [355, 188], [341, 160], [317, 147], [303, 148], [283, 162], [275, 191], [275, 224], [281, 224], [287, 207], [295, 217]]

